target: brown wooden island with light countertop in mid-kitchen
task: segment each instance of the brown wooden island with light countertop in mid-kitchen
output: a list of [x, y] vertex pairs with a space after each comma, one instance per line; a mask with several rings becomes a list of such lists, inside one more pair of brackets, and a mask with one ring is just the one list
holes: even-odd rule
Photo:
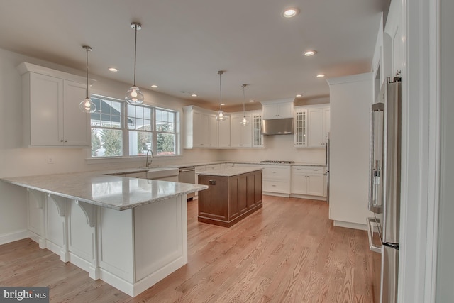
[[262, 208], [262, 169], [228, 167], [199, 173], [199, 222], [231, 227]]

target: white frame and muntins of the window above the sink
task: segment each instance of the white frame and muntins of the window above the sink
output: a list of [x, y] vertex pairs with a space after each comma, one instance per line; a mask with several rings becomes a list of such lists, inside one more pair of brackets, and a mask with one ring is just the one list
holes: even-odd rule
[[[121, 127], [120, 128], [108, 128], [108, 127], [103, 127], [101, 126], [92, 126], [92, 119], [89, 119], [90, 123], [90, 133], [92, 133], [93, 128], [101, 128], [101, 129], [116, 129], [116, 130], [121, 130], [122, 131], [122, 152], [123, 155], [118, 155], [118, 156], [93, 156], [92, 155], [92, 149], [89, 150], [89, 159], [90, 160], [101, 160], [101, 159], [125, 159], [125, 158], [143, 158], [145, 155], [130, 155], [129, 154], [129, 141], [130, 141], [130, 131], [140, 131], [136, 130], [135, 128], [128, 128], [128, 119], [131, 116], [128, 114], [128, 106], [138, 106], [138, 107], [145, 107], [151, 110], [151, 119], [152, 119], [152, 125], [151, 125], [151, 131], [144, 131], [146, 133], [151, 133], [151, 150], [153, 151], [153, 154], [155, 157], [159, 158], [165, 158], [165, 157], [175, 157], [175, 156], [181, 156], [181, 131], [180, 131], [180, 126], [181, 126], [181, 121], [180, 117], [181, 114], [179, 111], [175, 109], [167, 109], [161, 106], [153, 106], [150, 104], [138, 104], [138, 105], [131, 105], [128, 104], [126, 101], [117, 99], [115, 97], [108, 97], [105, 95], [101, 94], [90, 94], [90, 97], [92, 98], [97, 98], [97, 99], [106, 99], [109, 101], [117, 101], [121, 102], [121, 111], [122, 111], [122, 116], [121, 116]], [[156, 111], [167, 111], [173, 114], [173, 131], [172, 132], [166, 132], [166, 131], [157, 131], [157, 119], [156, 119]], [[134, 113], [135, 114], [135, 113]], [[170, 133], [173, 136], [175, 136], [175, 148], [174, 148], [174, 153], [170, 155], [165, 155], [165, 154], [159, 154], [157, 153], [157, 136], [158, 133]]]

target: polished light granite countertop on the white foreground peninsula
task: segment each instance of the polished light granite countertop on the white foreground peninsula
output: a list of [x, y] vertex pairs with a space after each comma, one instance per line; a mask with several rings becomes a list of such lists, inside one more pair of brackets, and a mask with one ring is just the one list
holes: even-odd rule
[[208, 188], [198, 184], [108, 176], [100, 172], [6, 177], [1, 180], [118, 211]]

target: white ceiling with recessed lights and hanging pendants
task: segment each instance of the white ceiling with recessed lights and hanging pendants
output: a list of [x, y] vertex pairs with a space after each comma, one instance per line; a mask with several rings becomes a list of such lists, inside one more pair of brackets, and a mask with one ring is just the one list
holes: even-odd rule
[[[299, 15], [283, 18], [287, 7]], [[184, 99], [219, 103], [218, 70], [226, 107], [327, 96], [326, 77], [370, 72], [389, 0], [0, 0], [0, 48], [133, 82]], [[317, 50], [305, 57], [305, 50]], [[108, 67], [118, 68], [112, 73]], [[127, 86], [126, 85], [126, 88]]]

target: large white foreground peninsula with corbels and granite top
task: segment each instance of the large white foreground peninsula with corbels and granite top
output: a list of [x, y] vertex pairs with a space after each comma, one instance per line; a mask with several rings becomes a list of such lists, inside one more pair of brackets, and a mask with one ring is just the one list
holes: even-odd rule
[[207, 186], [85, 172], [2, 178], [28, 191], [28, 233], [132, 297], [187, 264], [187, 200]]

